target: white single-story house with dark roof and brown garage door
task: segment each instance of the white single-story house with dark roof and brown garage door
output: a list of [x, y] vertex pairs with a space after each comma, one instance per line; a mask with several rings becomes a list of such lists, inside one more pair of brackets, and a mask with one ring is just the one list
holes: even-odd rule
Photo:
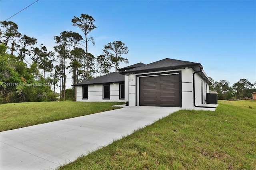
[[[77, 83], [76, 101], [129, 101], [130, 106], [203, 107], [209, 77], [200, 63], [162, 59]], [[201, 106], [200, 106], [201, 105]]]

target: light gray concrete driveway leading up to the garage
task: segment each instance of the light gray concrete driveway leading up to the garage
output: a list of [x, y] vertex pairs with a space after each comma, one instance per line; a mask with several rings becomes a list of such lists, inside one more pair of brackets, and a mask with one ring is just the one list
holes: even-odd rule
[[0, 169], [54, 169], [180, 109], [129, 106], [0, 132]]

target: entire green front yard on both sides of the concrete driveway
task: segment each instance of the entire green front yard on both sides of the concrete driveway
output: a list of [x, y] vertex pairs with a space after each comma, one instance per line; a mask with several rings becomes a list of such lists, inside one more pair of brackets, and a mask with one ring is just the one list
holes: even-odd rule
[[[218, 101], [215, 112], [181, 110], [60, 170], [256, 169], [256, 101]], [[0, 105], [0, 131], [117, 109], [117, 102]]]

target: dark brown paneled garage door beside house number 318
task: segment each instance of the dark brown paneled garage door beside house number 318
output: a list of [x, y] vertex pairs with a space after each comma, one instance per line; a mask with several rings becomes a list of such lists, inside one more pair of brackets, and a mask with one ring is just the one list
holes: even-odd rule
[[140, 106], [180, 107], [179, 74], [140, 77]]

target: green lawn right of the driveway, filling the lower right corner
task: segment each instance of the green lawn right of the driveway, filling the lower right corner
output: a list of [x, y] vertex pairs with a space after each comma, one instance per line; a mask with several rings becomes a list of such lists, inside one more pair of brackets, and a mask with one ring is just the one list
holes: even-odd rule
[[59, 169], [256, 170], [256, 101], [219, 103], [173, 113]]

